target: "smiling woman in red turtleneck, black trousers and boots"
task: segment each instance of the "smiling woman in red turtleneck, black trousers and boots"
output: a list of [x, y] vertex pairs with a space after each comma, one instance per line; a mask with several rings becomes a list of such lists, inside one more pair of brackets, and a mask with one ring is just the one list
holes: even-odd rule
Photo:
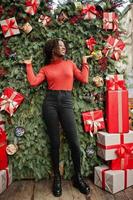
[[43, 120], [47, 126], [47, 134], [51, 144], [51, 158], [54, 172], [53, 195], [61, 196], [61, 176], [59, 171], [59, 122], [65, 132], [71, 150], [74, 165], [73, 185], [81, 193], [89, 194], [90, 188], [81, 176], [80, 167], [80, 145], [76, 132], [71, 91], [74, 78], [82, 83], [88, 82], [89, 70], [87, 58], [83, 56], [82, 70], [71, 60], [65, 60], [65, 43], [61, 39], [48, 40], [44, 47], [45, 66], [37, 75], [32, 68], [32, 60], [24, 60], [26, 64], [27, 79], [31, 86], [37, 86], [47, 81], [48, 90], [43, 103]]

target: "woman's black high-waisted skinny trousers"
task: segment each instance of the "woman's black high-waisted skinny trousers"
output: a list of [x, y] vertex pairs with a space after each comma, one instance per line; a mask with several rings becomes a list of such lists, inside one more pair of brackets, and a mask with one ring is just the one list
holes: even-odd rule
[[50, 138], [53, 172], [59, 173], [60, 122], [71, 150], [75, 173], [80, 173], [80, 145], [70, 91], [47, 91], [43, 103], [43, 120]]

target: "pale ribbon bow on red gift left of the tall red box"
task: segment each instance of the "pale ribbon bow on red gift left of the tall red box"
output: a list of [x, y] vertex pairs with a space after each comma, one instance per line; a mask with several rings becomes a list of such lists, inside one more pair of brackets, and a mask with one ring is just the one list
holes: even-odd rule
[[[93, 133], [97, 133], [97, 131], [98, 131], [98, 128], [100, 128], [101, 127], [101, 123], [100, 122], [102, 122], [103, 121], [103, 118], [99, 118], [99, 119], [96, 119], [96, 120], [86, 120], [86, 124], [87, 125], [90, 125], [90, 135], [93, 137]], [[91, 131], [91, 129], [94, 129], [93, 130], [93, 133], [92, 133], [92, 131]]]

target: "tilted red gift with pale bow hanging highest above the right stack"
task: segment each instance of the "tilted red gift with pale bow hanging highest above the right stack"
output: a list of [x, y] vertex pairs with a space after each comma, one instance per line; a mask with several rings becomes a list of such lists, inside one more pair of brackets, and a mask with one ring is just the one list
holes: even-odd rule
[[119, 60], [122, 50], [125, 47], [125, 43], [121, 39], [109, 36], [103, 54], [109, 56], [114, 60]]

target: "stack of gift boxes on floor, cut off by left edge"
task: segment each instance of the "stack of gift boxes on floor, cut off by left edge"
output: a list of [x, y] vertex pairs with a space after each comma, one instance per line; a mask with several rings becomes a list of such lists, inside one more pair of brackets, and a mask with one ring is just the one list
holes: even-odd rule
[[4, 128], [4, 120], [0, 114], [0, 193], [2, 193], [12, 182], [12, 169], [8, 166], [6, 153], [7, 136]]

